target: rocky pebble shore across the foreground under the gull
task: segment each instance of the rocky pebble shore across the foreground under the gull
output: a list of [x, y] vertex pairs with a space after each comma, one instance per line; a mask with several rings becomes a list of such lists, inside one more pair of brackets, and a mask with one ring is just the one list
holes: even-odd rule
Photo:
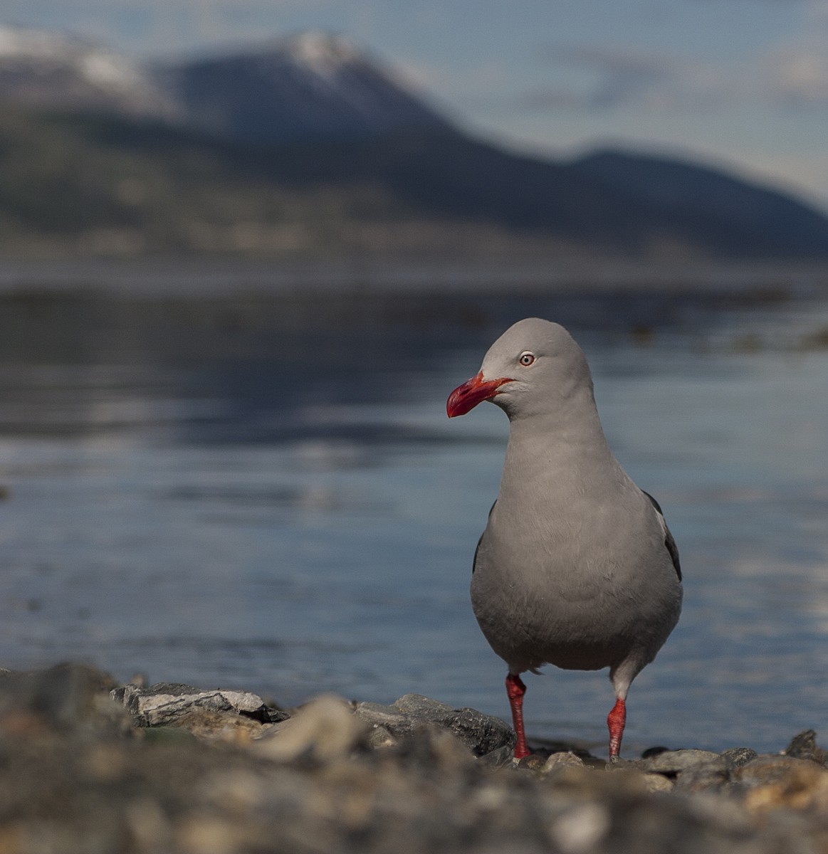
[[652, 748], [608, 766], [473, 709], [115, 684], [77, 664], [0, 676], [3, 854], [815, 854], [828, 763]]

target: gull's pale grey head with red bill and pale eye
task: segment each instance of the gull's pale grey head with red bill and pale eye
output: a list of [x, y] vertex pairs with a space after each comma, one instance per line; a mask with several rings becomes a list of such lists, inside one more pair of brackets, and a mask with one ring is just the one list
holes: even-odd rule
[[592, 396], [584, 352], [560, 324], [527, 318], [510, 326], [485, 354], [478, 373], [446, 403], [449, 418], [491, 401], [510, 419], [554, 411], [579, 390]]

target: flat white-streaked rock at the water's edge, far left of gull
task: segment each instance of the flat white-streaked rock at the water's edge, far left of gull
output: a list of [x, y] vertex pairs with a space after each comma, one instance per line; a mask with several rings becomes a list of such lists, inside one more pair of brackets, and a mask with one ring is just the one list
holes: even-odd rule
[[[125, 685], [116, 688], [112, 698], [126, 706], [138, 727], [185, 726], [208, 734], [217, 727], [232, 728], [238, 716], [260, 724], [283, 721], [287, 717], [285, 712], [265, 705], [255, 693], [220, 688], [205, 691], [178, 682], [157, 682], [150, 687]], [[220, 724], [215, 716], [222, 714], [227, 720]]]

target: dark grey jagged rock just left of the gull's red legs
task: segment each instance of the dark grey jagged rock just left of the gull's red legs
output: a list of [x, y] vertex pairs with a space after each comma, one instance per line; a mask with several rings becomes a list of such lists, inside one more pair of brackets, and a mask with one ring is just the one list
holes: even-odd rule
[[474, 709], [453, 709], [450, 705], [420, 694], [406, 694], [392, 705], [358, 703], [357, 717], [385, 727], [392, 735], [407, 736], [417, 722], [437, 724], [460, 738], [475, 756], [485, 756], [502, 746], [514, 748], [514, 730], [499, 717]]

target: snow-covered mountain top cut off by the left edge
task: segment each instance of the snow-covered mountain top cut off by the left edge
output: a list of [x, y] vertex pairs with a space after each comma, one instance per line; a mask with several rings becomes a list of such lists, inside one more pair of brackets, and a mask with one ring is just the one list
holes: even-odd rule
[[138, 63], [82, 38], [0, 26], [0, 99], [30, 108], [173, 118], [178, 106]]

